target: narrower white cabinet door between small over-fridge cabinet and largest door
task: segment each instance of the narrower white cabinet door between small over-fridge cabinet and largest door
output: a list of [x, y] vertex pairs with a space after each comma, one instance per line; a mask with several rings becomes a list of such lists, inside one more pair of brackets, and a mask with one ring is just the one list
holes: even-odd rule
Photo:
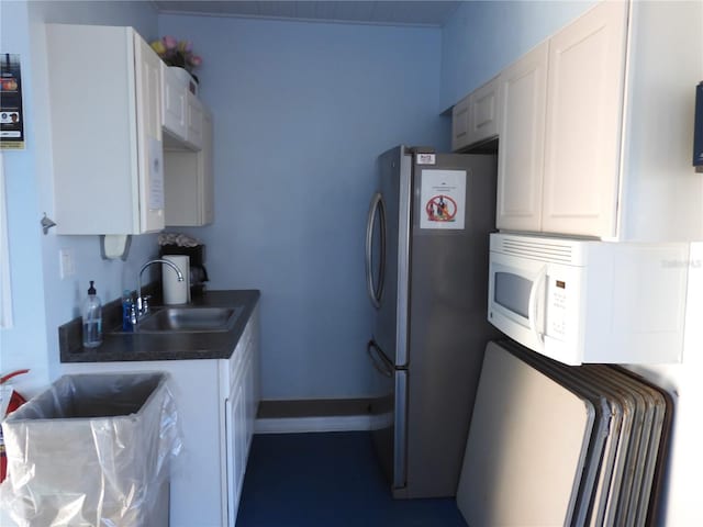
[[542, 227], [547, 53], [545, 42], [500, 75], [498, 228]]

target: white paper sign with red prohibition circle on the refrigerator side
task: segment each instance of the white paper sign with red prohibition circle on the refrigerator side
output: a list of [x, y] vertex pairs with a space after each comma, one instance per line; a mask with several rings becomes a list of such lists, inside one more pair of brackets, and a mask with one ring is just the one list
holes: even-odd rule
[[462, 229], [466, 170], [422, 170], [420, 228]]

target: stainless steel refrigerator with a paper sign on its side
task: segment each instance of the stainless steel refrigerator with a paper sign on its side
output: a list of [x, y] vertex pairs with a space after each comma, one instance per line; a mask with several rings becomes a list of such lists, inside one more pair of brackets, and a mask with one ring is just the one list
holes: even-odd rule
[[373, 441], [395, 497], [456, 494], [487, 343], [493, 155], [378, 158], [366, 236]]

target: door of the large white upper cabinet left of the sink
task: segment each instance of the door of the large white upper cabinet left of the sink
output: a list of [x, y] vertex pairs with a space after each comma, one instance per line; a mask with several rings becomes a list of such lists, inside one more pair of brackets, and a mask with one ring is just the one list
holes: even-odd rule
[[164, 148], [161, 142], [161, 59], [134, 33], [140, 231], [164, 228]]

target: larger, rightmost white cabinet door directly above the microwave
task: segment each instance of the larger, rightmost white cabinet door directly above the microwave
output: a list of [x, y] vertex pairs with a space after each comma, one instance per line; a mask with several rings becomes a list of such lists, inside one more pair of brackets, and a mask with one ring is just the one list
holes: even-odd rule
[[616, 228], [627, 2], [602, 2], [549, 42], [542, 228]]

